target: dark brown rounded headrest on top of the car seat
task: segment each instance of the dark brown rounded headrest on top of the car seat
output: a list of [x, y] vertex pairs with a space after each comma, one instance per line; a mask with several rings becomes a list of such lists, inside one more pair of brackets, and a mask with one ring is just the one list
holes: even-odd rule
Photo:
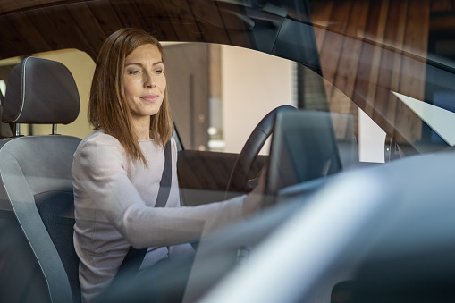
[[6, 85], [3, 122], [68, 124], [79, 110], [76, 82], [62, 63], [27, 57], [14, 66]]

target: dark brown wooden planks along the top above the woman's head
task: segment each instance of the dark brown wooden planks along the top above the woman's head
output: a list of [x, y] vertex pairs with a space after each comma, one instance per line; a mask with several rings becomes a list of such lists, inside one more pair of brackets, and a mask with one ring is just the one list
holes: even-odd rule
[[116, 29], [132, 26], [164, 41], [250, 47], [245, 7], [206, 0], [0, 1], [0, 58], [78, 48], [95, 57]]

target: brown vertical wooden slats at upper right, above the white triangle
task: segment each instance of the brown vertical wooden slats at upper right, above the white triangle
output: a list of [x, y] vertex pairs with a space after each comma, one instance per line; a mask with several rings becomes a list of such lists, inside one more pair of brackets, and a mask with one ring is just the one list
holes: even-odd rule
[[[427, 61], [432, 52], [429, 39], [432, 31], [455, 37], [455, 1], [317, 0], [312, 4], [331, 109], [357, 117], [360, 108], [392, 139], [420, 145], [422, 119], [392, 91], [432, 102], [426, 87], [432, 80], [426, 71], [433, 68], [430, 77], [435, 77], [439, 66], [432, 65], [438, 57]], [[447, 63], [443, 60], [441, 66]], [[425, 148], [433, 147], [417, 147]]]

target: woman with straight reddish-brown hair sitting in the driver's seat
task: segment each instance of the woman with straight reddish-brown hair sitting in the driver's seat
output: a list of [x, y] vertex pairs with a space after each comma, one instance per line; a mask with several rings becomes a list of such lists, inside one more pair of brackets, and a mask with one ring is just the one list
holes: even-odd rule
[[[72, 164], [74, 247], [83, 301], [99, 298], [131, 246], [148, 248], [142, 270], [188, 252], [190, 245], [183, 243], [258, 207], [253, 195], [180, 207], [163, 54], [146, 32], [120, 29], [98, 55], [89, 99], [95, 131], [80, 142]], [[172, 188], [166, 206], [156, 208], [169, 140]]]

